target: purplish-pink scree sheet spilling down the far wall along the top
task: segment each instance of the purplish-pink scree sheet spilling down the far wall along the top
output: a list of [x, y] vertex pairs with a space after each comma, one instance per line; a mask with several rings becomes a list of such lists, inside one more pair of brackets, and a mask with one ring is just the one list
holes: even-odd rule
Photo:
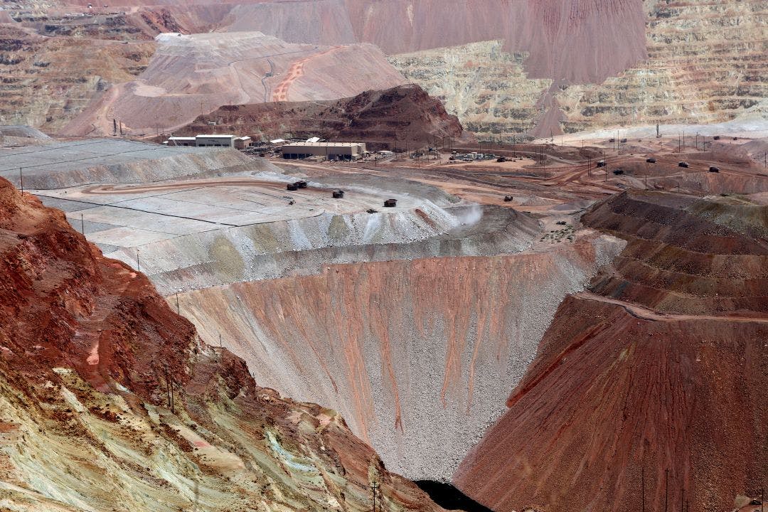
[[[312, 6], [310, 7], [310, 3]], [[318, 23], [333, 19], [334, 23]], [[535, 78], [601, 81], [645, 58], [644, 13], [627, 0], [324, 0], [239, 5], [230, 30], [286, 41], [372, 43], [387, 55], [503, 39]]]

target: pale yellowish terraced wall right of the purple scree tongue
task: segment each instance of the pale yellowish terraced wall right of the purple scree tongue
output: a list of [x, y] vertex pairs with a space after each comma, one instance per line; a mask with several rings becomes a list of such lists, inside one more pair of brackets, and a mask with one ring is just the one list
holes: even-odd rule
[[766, 0], [645, 0], [648, 58], [555, 94], [567, 131], [730, 121], [768, 96]]

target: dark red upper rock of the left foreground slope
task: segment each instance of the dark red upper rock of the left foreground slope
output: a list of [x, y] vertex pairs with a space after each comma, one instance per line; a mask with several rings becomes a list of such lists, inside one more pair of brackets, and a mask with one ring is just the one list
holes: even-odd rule
[[22, 198], [6, 180], [0, 229], [8, 276], [0, 331], [8, 334], [9, 364], [76, 368], [94, 388], [119, 383], [144, 398], [156, 390], [161, 365], [184, 382], [194, 327], [170, 312], [146, 277], [102, 258], [64, 213]]

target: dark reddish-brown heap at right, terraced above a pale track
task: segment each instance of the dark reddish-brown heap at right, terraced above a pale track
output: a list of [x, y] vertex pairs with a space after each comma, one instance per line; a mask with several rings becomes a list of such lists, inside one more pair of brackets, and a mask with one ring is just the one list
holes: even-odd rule
[[760, 496], [768, 245], [710, 203], [623, 193], [584, 216], [627, 247], [561, 304], [457, 487], [499, 512], [731, 510]]

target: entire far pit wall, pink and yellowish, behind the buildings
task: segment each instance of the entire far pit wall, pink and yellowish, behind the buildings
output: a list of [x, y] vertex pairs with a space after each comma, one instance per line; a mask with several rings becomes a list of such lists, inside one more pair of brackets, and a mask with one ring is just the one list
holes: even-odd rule
[[[471, 7], [454, 0], [439, 5], [432, 0], [123, 2], [96, 9], [86, 8], [87, 4], [12, 2], [6, 7], [0, 28], [9, 37], [0, 41], [0, 65], [15, 77], [3, 89], [15, 101], [15, 109], [4, 112], [0, 122], [58, 130], [88, 110], [69, 133], [108, 133], [111, 118], [118, 116], [126, 117], [137, 132], [151, 133], [178, 127], [184, 119], [191, 121], [190, 112], [206, 113], [222, 104], [336, 99], [366, 88], [380, 89], [382, 83], [371, 81], [369, 72], [395, 76], [398, 71], [405, 81], [414, 81], [445, 101], [449, 113], [483, 138], [730, 121], [766, 97], [765, 0], [703, 4], [693, 0], [671, 4], [483, 0]], [[78, 9], [84, 15], [70, 14]], [[174, 98], [179, 91], [164, 85], [155, 88], [157, 84], [148, 77], [144, 79], [149, 88], [115, 88], [133, 81], [147, 66], [154, 51], [147, 39], [168, 31], [205, 33], [209, 39], [214, 37], [211, 33], [218, 33], [217, 44], [225, 46], [241, 43], [223, 32], [259, 31], [286, 45], [324, 49], [311, 64], [304, 61], [309, 55], [297, 54], [285, 64], [274, 59], [273, 64], [264, 62], [266, 68], [234, 64], [236, 58], [222, 57], [227, 68], [207, 81], [209, 87], [224, 89], [218, 104], [199, 91]], [[28, 47], [51, 55], [41, 64], [67, 61], [80, 55], [78, 48], [86, 37], [102, 41], [98, 45], [127, 41], [127, 47], [100, 49], [103, 64], [89, 68], [88, 73], [75, 71], [68, 81], [52, 72], [56, 68], [46, 73], [24, 54]], [[372, 55], [366, 44], [381, 48], [396, 70]], [[261, 45], [249, 43], [242, 51], [259, 55]], [[325, 53], [339, 46], [347, 51]], [[197, 51], [204, 58], [220, 53], [215, 48]], [[350, 64], [358, 55], [364, 56], [362, 61]], [[87, 60], [90, 57], [84, 55]], [[134, 58], [136, 64], [125, 58]], [[378, 64], [371, 68], [366, 62]], [[339, 73], [354, 68], [365, 71], [338, 79]], [[326, 74], [334, 79], [323, 78]], [[51, 80], [60, 82], [64, 94], [46, 100], [42, 94]], [[289, 92], [286, 85], [294, 82]], [[337, 91], [332, 82], [348, 87]], [[29, 99], [14, 96], [13, 91], [30, 85], [43, 91]], [[141, 101], [160, 108], [164, 126], [134, 118], [135, 104]], [[108, 123], [95, 122], [98, 117]]]

